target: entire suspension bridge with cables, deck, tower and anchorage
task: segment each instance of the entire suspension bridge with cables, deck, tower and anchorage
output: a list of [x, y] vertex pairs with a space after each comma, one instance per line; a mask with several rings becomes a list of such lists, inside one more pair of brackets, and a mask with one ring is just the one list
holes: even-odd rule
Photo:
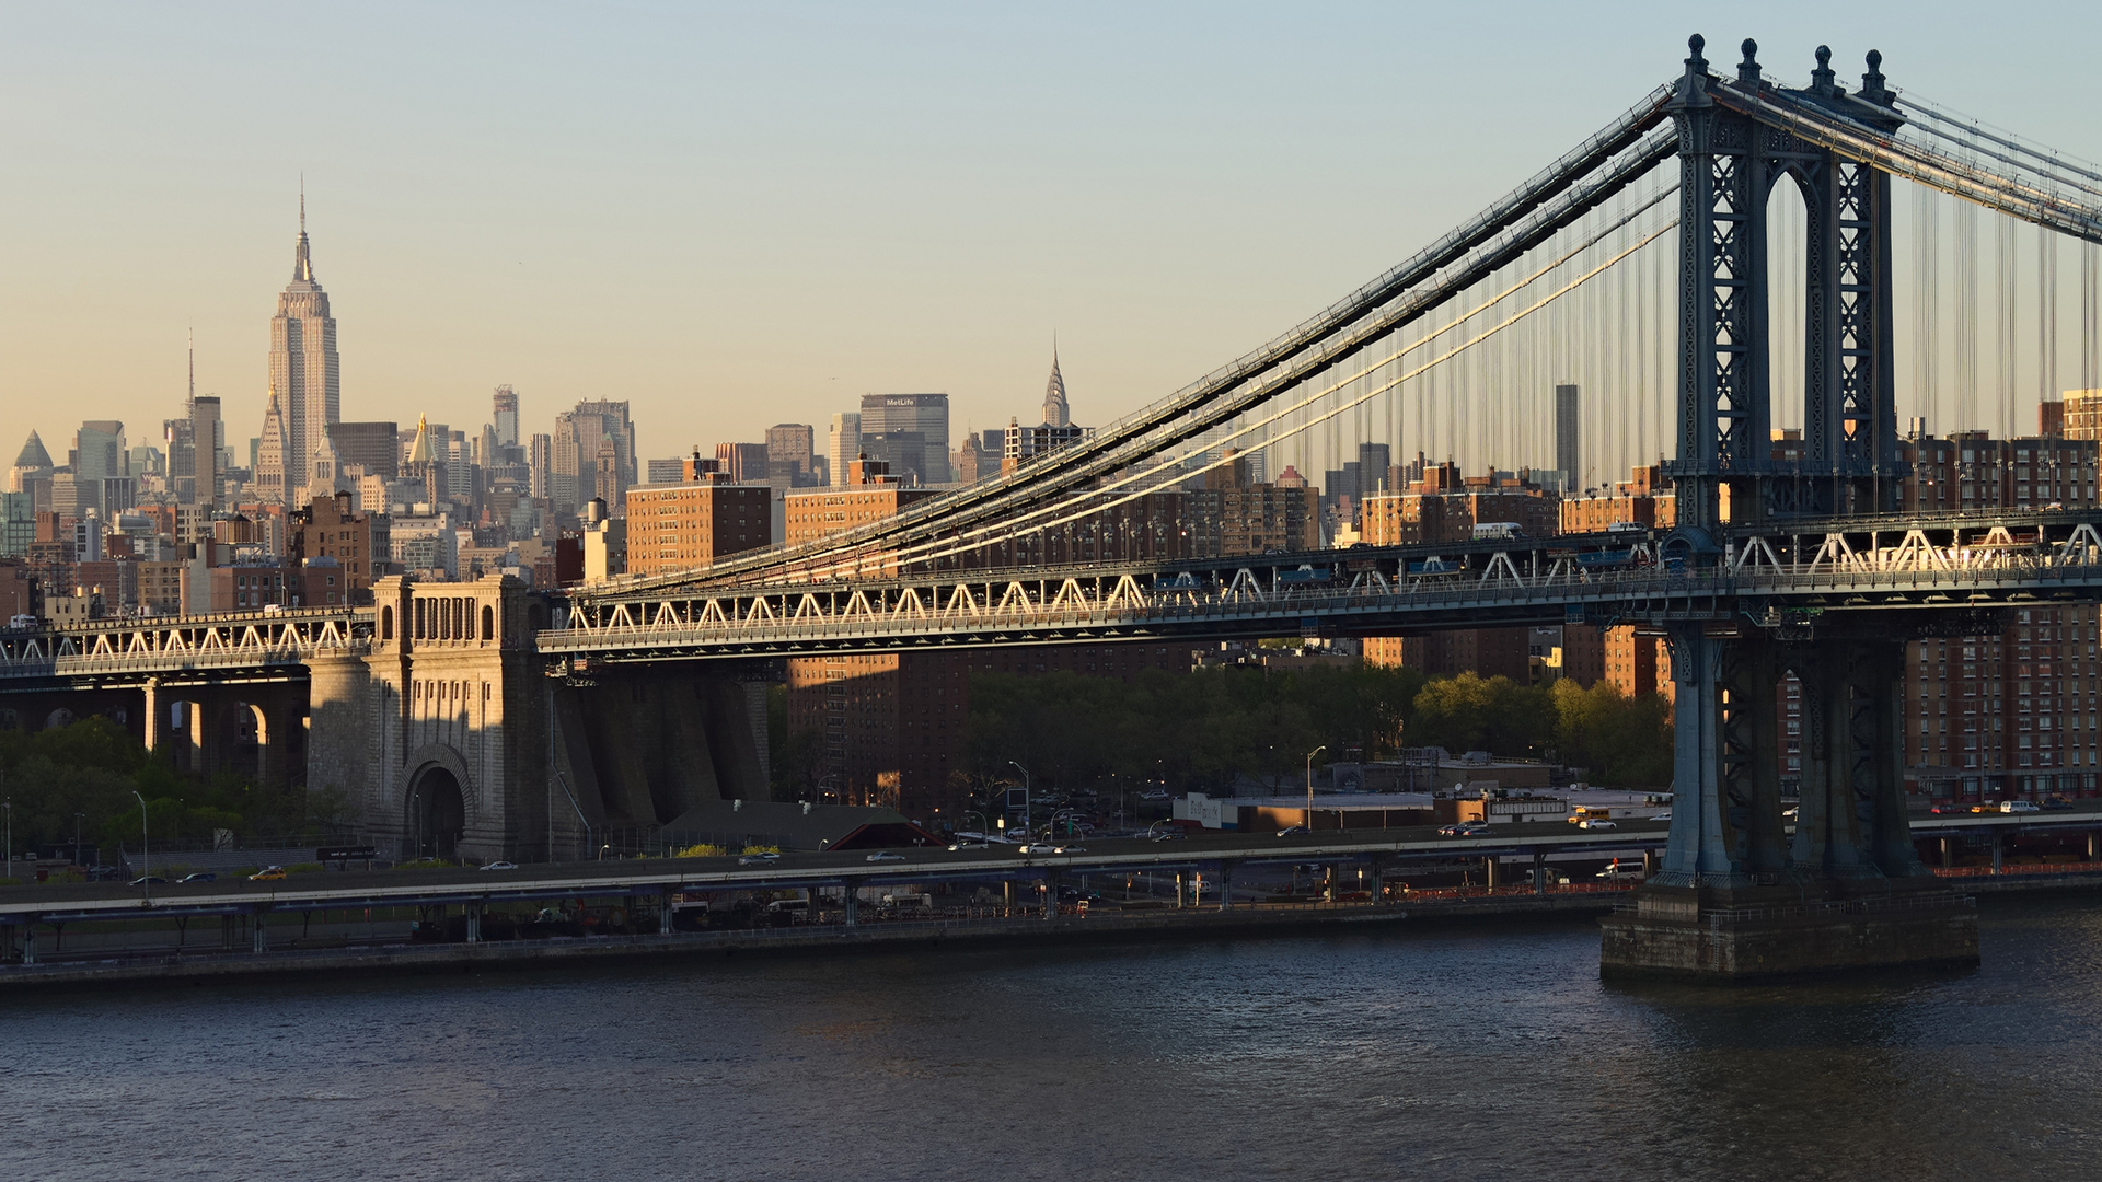
[[[2060, 238], [2083, 265], [2079, 376], [2102, 385], [2102, 168], [1900, 93], [1879, 53], [1850, 88], [1822, 46], [1804, 84], [1770, 76], [1751, 40], [1734, 67], [1713, 65], [1698, 36], [1688, 46], [1675, 78], [1312, 320], [1080, 442], [893, 517], [557, 597], [387, 580], [374, 608], [105, 620], [8, 639], [0, 677], [143, 688], [149, 715], [156, 692], [183, 686], [305, 681], [309, 766], [345, 776], [378, 827], [406, 827], [423, 768], [439, 768], [469, 793], [469, 831], [517, 848], [544, 829], [555, 850], [557, 822], [534, 816], [542, 787], [517, 784], [547, 776], [536, 768], [559, 711], [538, 705], [538, 684], [551, 667], [584, 684], [595, 669], [700, 675], [834, 652], [1633, 625], [1671, 648], [1675, 806], [1644, 904], [1656, 923], [1608, 925], [1608, 963], [1669, 961], [1677, 953], [1644, 951], [1673, 938], [1658, 936], [1669, 923], [1766, 915], [1778, 900], [1879, 900], [1917, 921], [1892, 938], [1961, 944], [1907, 822], [1904, 646], [1997, 631], [2022, 604], [2102, 599], [2102, 513], [1907, 511], [1900, 406], [1951, 427], [2014, 427], [2022, 223], [2037, 236], [2037, 385], [2056, 385], [2062, 351]], [[1894, 231], [1900, 193], [1909, 250]], [[1940, 267], [1949, 212], [1959, 288], [1978, 288], [1978, 210], [2001, 246], [1997, 372], [1978, 381], [1972, 320], [1949, 334], [1942, 383], [1944, 334], [1919, 284]], [[1913, 290], [1904, 387], [1900, 261]], [[1579, 351], [1608, 379], [1591, 433], [1610, 433], [1625, 461], [1669, 452], [1673, 526], [1209, 559], [1177, 553], [1139, 513], [1150, 494], [1234, 463], [1232, 450], [1333, 456], [1413, 433], [1434, 452], [1522, 454], [1547, 419], [1530, 391]], [[1799, 452], [1776, 458], [1776, 427], [1799, 431]], [[486, 679], [448, 677], [439, 707], [412, 705], [429, 694], [412, 665], [465, 669], [479, 650], [502, 669], [496, 721]], [[1776, 688], [1791, 675], [1806, 730], [1787, 822]], [[467, 730], [515, 732], [494, 761], [423, 726], [433, 709], [452, 719], [446, 694], [462, 692], [483, 702]], [[492, 776], [509, 787], [469, 791]], [[1974, 955], [1974, 928], [1967, 938]]]

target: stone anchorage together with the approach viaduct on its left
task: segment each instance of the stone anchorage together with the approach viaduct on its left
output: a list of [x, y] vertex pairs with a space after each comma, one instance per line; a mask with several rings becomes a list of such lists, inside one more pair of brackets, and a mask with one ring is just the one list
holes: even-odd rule
[[580, 858], [767, 797], [763, 660], [568, 675], [534, 644], [557, 612], [504, 576], [385, 578], [372, 608], [15, 633], [0, 724], [105, 715], [187, 772], [341, 791], [395, 856]]

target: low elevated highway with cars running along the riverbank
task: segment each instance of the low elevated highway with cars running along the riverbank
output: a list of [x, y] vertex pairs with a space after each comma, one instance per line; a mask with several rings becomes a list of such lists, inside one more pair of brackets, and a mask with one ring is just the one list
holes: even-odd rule
[[[639, 858], [624, 862], [530, 864], [517, 871], [343, 871], [282, 881], [156, 885], [151, 902], [122, 883], [0, 888], [0, 928], [114, 919], [177, 919], [345, 911], [366, 906], [462, 906], [555, 898], [652, 898], [675, 892], [866, 888], [937, 881], [1045, 879], [1059, 875], [1234, 871], [1291, 862], [1377, 862], [1383, 869], [1452, 858], [1614, 856], [1658, 850], [1667, 822], [1631, 820], [1614, 831], [1568, 822], [1497, 824], [1488, 837], [1440, 837], [1431, 827], [1337, 833], [1202, 833], [1181, 841], [1089, 841], [1070, 854], [992, 845], [986, 850], [898, 850], [902, 862], [866, 852], [790, 852], [769, 867], [736, 858]], [[1915, 839], [2073, 835], [2102, 831], [2102, 801], [2066, 812], [1915, 816]], [[1038, 848], [1040, 850], [1040, 848]]]

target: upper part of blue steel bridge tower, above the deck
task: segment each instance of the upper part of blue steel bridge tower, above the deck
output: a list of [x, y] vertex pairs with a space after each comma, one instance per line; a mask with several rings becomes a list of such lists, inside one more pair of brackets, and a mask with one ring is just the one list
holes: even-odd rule
[[[1761, 76], [1747, 40], [1736, 78], [1709, 74], [1703, 38], [1669, 111], [1679, 130], [1682, 528], [1770, 515], [1885, 511], [1898, 501], [1892, 360], [1890, 177], [1749, 114], [1757, 101], [1827, 107], [1852, 122], [1902, 126], [1871, 55], [1862, 88], [1835, 84], [1831, 50], [1804, 90]], [[1804, 440], [1772, 456], [1768, 200], [1791, 177], [1804, 193]]]

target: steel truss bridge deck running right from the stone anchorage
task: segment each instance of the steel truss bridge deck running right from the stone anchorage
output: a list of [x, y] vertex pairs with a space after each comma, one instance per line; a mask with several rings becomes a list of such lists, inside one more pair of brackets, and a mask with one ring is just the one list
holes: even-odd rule
[[538, 633], [536, 646], [584, 663], [633, 663], [1558, 623], [1782, 625], [1862, 610], [1976, 612], [2102, 597], [2098, 526], [2102, 509], [1881, 515], [1736, 528], [1709, 553], [1698, 553], [1684, 534], [1614, 530], [641, 597], [580, 593], [565, 627]]

